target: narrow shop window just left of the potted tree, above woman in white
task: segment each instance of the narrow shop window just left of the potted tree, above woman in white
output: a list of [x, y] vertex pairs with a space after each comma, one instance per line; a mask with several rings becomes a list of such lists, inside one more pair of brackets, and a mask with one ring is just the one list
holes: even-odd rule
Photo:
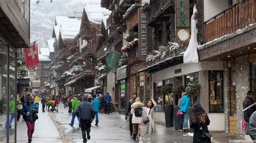
[[157, 102], [157, 110], [163, 111], [163, 96], [161, 94], [161, 87], [163, 86], [163, 81], [158, 81], [154, 83], [154, 100]]

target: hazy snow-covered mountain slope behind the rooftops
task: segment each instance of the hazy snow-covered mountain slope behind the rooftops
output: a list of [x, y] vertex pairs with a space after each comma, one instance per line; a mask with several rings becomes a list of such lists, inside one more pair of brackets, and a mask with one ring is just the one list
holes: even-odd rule
[[[98, 0], [97, 0], [98, 1]], [[31, 0], [30, 40], [38, 40], [39, 48], [47, 48], [47, 40], [51, 38], [56, 16], [73, 16], [74, 12], [82, 12], [85, 0]]]

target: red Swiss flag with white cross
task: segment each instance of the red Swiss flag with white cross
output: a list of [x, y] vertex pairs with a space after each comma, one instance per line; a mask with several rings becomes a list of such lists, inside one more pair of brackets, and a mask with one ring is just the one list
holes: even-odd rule
[[33, 42], [29, 48], [24, 48], [23, 53], [24, 53], [26, 66], [28, 67], [28, 70], [31, 71], [36, 69], [39, 64], [38, 47], [37, 47], [36, 41]]

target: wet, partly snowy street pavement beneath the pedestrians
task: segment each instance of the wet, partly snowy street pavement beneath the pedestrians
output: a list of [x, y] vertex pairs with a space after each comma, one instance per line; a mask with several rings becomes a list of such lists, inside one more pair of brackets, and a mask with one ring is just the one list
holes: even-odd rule
[[[42, 106], [41, 106], [42, 107]], [[82, 133], [78, 127], [78, 121], [71, 127], [72, 116], [68, 113], [68, 108], [59, 105], [59, 112], [42, 112], [39, 108], [39, 119], [36, 121], [35, 133], [32, 142], [82, 142]], [[4, 118], [0, 115], [0, 119]], [[3, 120], [0, 120], [4, 124]], [[14, 124], [12, 124], [14, 126]], [[27, 142], [26, 124], [24, 121], [18, 122], [17, 142]], [[6, 130], [0, 127], [0, 142], [5, 142]], [[11, 141], [14, 142], [14, 130], [11, 129]], [[2, 139], [2, 140], [1, 140]], [[230, 142], [239, 139], [237, 135], [224, 133], [214, 133], [212, 142]], [[92, 122], [91, 139], [87, 142], [138, 142], [130, 137], [129, 120], [125, 120], [125, 115], [117, 112], [104, 114], [99, 113], [99, 126]], [[193, 142], [193, 137], [175, 131], [173, 127], [166, 128], [163, 125], [156, 125], [156, 132], [153, 133], [152, 142]]]

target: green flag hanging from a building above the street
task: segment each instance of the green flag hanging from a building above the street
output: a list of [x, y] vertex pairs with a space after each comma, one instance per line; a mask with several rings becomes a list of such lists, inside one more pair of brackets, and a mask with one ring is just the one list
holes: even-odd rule
[[116, 68], [119, 58], [120, 58], [120, 53], [110, 50], [109, 53], [107, 54], [107, 59], [106, 59], [107, 69], [113, 70], [114, 68]]

